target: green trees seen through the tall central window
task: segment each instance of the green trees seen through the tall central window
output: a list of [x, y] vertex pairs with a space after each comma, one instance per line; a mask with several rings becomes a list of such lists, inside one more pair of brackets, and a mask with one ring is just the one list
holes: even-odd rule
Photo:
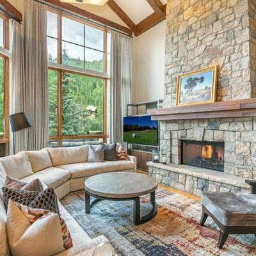
[[[51, 58], [51, 56], [49, 56]], [[79, 61], [63, 50], [63, 64], [79, 67]], [[83, 61], [82, 61], [83, 62]], [[90, 62], [96, 70], [102, 61]], [[57, 134], [58, 73], [49, 70], [49, 135]], [[103, 131], [103, 79], [63, 72], [62, 74], [62, 134], [79, 135]], [[96, 108], [95, 108], [96, 107]]]

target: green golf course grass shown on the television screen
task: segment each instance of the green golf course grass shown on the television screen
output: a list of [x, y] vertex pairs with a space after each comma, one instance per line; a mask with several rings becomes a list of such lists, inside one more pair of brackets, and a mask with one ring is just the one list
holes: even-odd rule
[[[136, 134], [136, 137], [133, 137], [132, 134]], [[127, 141], [129, 143], [157, 145], [157, 136], [157, 129], [145, 131], [130, 131], [124, 132], [124, 141]]]

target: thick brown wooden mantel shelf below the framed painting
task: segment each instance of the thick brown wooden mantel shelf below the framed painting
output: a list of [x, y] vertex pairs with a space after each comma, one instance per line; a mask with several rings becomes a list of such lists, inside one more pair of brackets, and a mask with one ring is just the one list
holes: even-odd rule
[[204, 118], [235, 118], [256, 116], [256, 98], [148, 109], [152, 120], [186, 120]]

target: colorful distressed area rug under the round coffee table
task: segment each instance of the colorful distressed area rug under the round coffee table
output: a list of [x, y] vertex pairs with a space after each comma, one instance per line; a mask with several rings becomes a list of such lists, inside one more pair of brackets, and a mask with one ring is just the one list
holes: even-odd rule
[[[150, 211], [143, 196], [142, 214]], [[216, 248], [218, 229], [211, 218], [198, 224], [201, 203], [164, 188], [156, 191], [157, 216], [140, 226], [132, 223], [132, 202], [101, 201], [84, 212], [84, 191], [71, 193], [61, 203], [90, 237], [106, 236], [117, 255], [256, 255], [254, 235], [230, 236], [222, 250]]]

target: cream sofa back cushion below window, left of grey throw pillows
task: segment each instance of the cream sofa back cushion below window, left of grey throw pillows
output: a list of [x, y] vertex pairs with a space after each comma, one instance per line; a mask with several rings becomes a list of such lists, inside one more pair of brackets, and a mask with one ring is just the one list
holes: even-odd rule
[[68, 147], [68, 148], [47, 148], [52, 165], [83, 163], [88, 158], [88, 146]]

